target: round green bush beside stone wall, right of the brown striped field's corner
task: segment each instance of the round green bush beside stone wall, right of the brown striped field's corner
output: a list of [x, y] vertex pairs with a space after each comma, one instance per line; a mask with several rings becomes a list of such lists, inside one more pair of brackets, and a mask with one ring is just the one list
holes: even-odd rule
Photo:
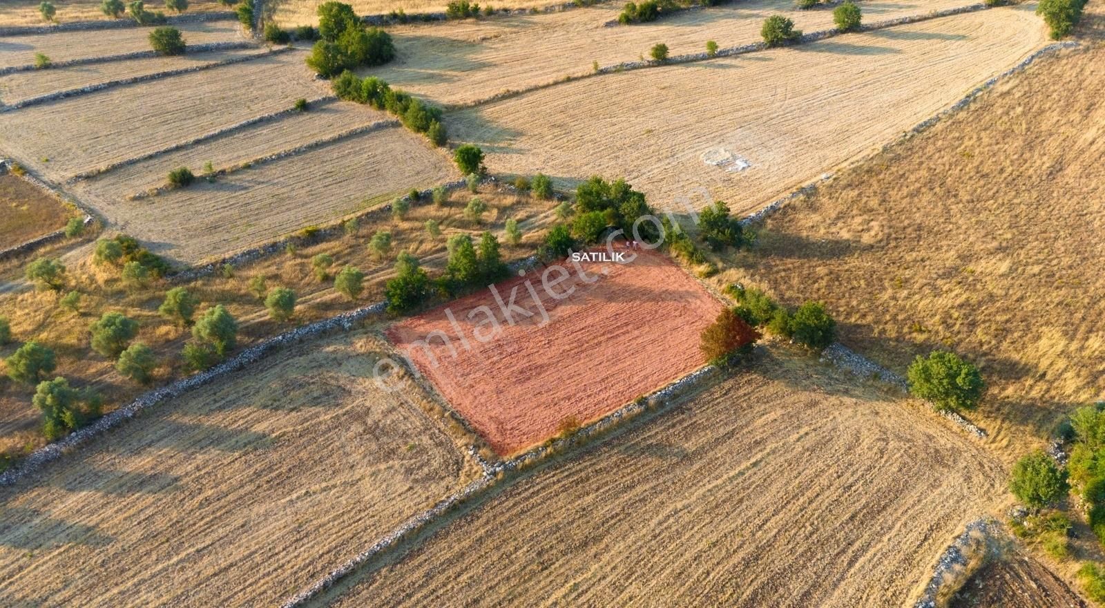
[[986, 390], [977, 367], [945, 350], [928, 358], [918, 355], [906, 377], [909, 392], [932, 401], [937, 410], [974, 409]]

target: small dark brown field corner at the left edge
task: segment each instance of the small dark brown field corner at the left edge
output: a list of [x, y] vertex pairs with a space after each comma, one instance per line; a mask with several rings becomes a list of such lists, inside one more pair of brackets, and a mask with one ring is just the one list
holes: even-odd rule
[[0, 175], [0, 250], [65, 226], [73, 211], [17, 176]]

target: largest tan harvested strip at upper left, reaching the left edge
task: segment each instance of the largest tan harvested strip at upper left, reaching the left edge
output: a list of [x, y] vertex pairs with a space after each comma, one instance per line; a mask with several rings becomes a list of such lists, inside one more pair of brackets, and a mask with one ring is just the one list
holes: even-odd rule
[[291, 51], [6, 112], [0, 134], [22, 165], [64, 181], [327, 94]]

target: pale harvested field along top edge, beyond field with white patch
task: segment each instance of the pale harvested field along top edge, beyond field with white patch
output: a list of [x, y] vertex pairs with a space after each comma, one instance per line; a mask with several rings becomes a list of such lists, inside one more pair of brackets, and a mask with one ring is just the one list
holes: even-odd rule
[[[864, 2], [863, 11], [865, 20], [875, 22], [965, 3], [871, 0]], [[397, 60], [362, 72], [441, 104], [471, 104], [567, 75], [586, 76], [593, 71], [592, 62], [638, 61], [656, 42], [667, 44], [672, 55], [701, 53], [707, 40], [723, 49], [759, 42], [760, 28], [770, 14], [785, 14], [806, 31], [833, 28], [832, 11], [798, 10], [792, 0], [738, 1], [654, 23], [604, 28], [603, 22], [617, 20], [621, 10], [621, 4], [604, 4], [551, 14], [389, 28], [394, 33]]]

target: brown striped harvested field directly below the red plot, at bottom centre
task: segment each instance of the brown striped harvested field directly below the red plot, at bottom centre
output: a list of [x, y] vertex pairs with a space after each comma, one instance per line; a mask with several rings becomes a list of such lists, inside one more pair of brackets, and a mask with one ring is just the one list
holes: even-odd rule
[[903, 606], [1003, 492], [1001, 468], [959, 431], [771, 348], [322, 600]]

